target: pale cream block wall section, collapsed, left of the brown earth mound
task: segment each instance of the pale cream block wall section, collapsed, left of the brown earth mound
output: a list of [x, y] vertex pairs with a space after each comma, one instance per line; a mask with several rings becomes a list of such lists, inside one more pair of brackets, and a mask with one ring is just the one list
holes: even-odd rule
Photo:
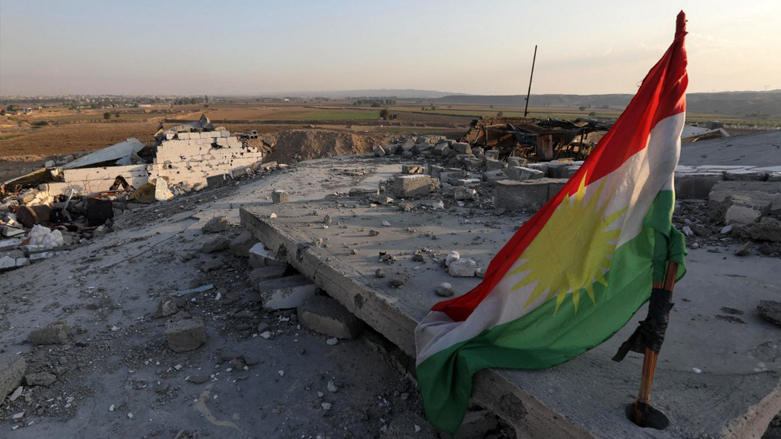
[[[169, 137], [169, 136], [166, 136]], [[207, 177], [247, 168], [263, 158], [257, 148], [243, 147], [228, 131], [177, 133], [157, 147], [149, 165], [149, 178], [166, 177], [169, 183], [196, 184]]]

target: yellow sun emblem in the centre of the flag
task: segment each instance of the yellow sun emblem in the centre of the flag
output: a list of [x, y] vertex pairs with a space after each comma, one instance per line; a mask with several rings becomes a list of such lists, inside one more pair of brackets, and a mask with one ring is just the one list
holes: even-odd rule
[[603, 218], [610, 197], [599, 206], [604, 180], [585, 201], [586, 177], [583, 177], [578, 191], [567, 195], [556, 208], [548, 222], [532, 240], [519, 260], [521, 265], [509, 275], [528, 272], [512, 290], [537, 283], [524, 308], [547, 291], [546, 301], [556, 298], [556, 311], [568, 293], [572, 293], [575, 311], [578, 310], [580, 292], [585, 290], [591, 301], [594, 298], [594, 283], [607, 286], [603, 274], [610, 268], [615, 244], [620, 229], [607, 230], [626, 208]]

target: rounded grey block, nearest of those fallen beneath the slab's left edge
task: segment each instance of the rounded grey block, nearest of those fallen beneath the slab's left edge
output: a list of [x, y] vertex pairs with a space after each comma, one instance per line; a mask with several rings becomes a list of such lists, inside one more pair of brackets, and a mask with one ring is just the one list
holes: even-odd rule
[[310, 297], [297, 308], [297, 313], [302, 325], [331, 337], [353, 339], [364, 327], [360, 319], [330, 297]]

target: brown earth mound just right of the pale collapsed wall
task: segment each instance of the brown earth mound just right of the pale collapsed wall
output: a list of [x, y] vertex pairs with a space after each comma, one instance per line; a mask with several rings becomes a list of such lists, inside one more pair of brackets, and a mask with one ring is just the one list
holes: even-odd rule
[[337, 155], [366, 154], [381, 142], [380, 137], [331, 130], [287, 130], [262, 136], [274, 144], [269, 161], [292, 163]]

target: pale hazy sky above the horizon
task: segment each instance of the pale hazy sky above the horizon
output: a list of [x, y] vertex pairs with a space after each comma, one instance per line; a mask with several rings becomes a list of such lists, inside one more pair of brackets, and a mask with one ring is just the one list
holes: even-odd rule
[[689, 20], [689, 92], [781, 89], [781, 2], [0, 0], [0, 96], [634, 93]]

